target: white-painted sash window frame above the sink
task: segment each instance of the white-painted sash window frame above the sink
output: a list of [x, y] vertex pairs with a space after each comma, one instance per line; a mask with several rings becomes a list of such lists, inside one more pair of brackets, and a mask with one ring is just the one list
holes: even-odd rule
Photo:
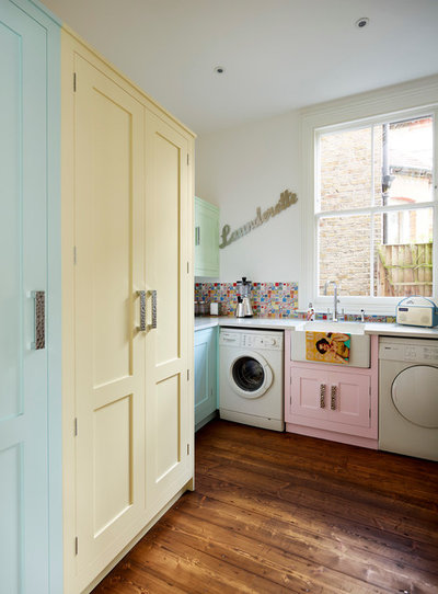
[[[433, 201], [422, 203], [420, 207], [434, 208], [433, 248], [433, 298], [438, 299], [438, 77], [399, 84], [370, 93], [362, 93], [343, 100], [324, 103], [301, 112], [302, 147], [302, 229], [303, 252], [301, 258], [301, 278], [299, 284], [299, 309], [306, 310], [309, 302], [316, 311], [332, 309], [333, 297], [318, 295], [318, 220], [315, 202], [318, 192], [318, 138], [324, 132], [337, 132], [354, 127], [369, 126], [387, 122], [415, 118], [420, 115], [434, 116], [434, 196]], [[388, 206], [384, 212], [410, 210], [412, 205]], [[376, 208], [381, 212], [380, 207]], [[364, 212], [372, 212], [364, 208]], [[324, 213], [325, 214], [325, 213]], [[361, 214], [361, 209], [345, 209], [337, 216]], [[347, 313], [394, 315], [401, 297], [356, 297], [343, 296], [341, 286], [341, 308]]]

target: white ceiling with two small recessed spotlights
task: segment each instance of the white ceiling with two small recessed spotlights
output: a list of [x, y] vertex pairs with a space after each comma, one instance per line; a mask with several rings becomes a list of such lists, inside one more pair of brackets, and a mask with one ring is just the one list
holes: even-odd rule
[[43, 2], [197, 134], [438, 72], [438, 0]]

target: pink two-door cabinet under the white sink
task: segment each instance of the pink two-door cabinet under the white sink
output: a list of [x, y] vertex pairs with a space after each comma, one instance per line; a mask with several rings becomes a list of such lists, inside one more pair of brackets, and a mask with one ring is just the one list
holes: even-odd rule
[[378, 336], [371, 336], [370, 367], [293, 362], [285, 332], [286, 431], [378, 448]]

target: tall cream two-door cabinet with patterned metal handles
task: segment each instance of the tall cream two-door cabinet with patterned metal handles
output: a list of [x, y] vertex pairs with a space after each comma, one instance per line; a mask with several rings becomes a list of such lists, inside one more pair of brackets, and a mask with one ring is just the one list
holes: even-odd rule
[[65, 594], [193, 483], [194, 136], [62, 33]]

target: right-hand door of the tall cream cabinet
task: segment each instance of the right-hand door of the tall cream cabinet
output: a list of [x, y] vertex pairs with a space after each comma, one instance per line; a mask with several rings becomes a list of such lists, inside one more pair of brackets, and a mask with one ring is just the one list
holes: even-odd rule
[[192, 478], [193, 384], [187, 370], [193, 356], [193, 284], [188, 274], [193, 209], [187, 155], [185, 136], [147, 113], [146, 278], [148, 288], [157, 292], [157, 328], [146, 340], [149, 517]]

